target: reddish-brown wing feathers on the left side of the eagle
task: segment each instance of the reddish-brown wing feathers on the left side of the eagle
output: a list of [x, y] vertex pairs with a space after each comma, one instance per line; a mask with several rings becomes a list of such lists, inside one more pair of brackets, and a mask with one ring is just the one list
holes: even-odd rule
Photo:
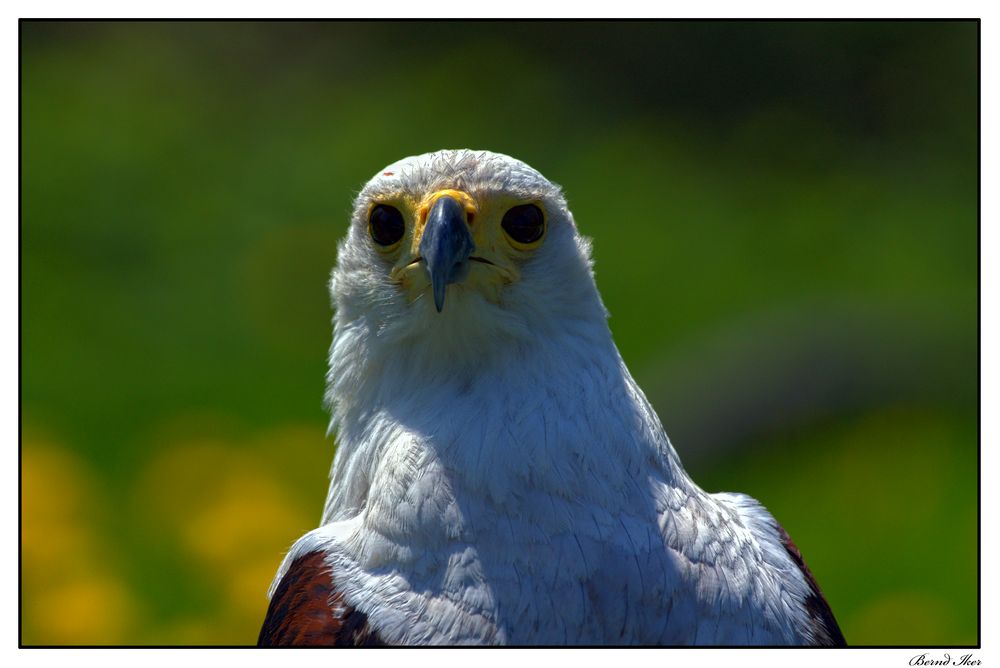
[[368, 616], [344, 603], [321, 552], [292, 562], [271, 597], [257, 638], [260, 647], [381, 644]]

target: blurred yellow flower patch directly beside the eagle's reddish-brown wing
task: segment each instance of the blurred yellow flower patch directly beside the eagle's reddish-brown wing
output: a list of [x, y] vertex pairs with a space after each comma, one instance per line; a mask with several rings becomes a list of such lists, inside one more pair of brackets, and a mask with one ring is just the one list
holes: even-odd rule
[[169, 625], [161, 642], [252, 644], [284, 552], [319, 521], [329, 441], [316, 427], [244, 438], [190, 419], [161, 437], [136, 479], [134, 505], [190, 559], [185, 570], [217, 602], [203, 619]]

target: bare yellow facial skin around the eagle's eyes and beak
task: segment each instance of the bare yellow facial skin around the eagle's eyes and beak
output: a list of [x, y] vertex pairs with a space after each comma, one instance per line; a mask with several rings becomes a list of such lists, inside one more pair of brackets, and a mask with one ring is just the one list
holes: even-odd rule
[[[416, 201], [400, 198], [394, 201], [375, 202], [368, 210], [378, 204], [395, 206], [403, 214], [406, 221], [406, 232], [403, 238], [391, 247], [381, 248], [376, 244], [382, 255], [394, 259], [389, 277], [410, 292], [413, 299], [428, 289], [430, 281], [420, 263], [420, 240], [423, 237], [424, 225], [431, 207], [441, 197], [452, 197], [465, 209], [470, 221], [469, 232], [472, 235], [475, 250], [470, 258], [469, 276], [461, 286], [466, 289], [479, 290], [491, 301], [499, 301], [500, 291], [505, 284], [514, 283], [520, 279], [520, 264], [525, 256], [545, 241], [545, 232], [530, 244], [514, 241], [504, 231], [500, 222], [503, 215], [511, 207], [521, 204], [535, 204], [545, 215], [545, 207], [541, 202], [516, 200], [506, 196], [485, 196], [479, 200], [460, 190], [440, 190]], [[370, 233], [370, 230], [369, 230]]]

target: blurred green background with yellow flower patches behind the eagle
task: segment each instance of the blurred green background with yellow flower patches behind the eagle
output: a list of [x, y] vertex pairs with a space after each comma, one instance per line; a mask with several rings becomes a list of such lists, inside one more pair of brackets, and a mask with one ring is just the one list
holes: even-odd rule
[[563, 185], [694, 478], [852, 644], [977, 642], [974, 22], [21, 23], [22, 642], [253, 643], [319, 520], [351, 198]]

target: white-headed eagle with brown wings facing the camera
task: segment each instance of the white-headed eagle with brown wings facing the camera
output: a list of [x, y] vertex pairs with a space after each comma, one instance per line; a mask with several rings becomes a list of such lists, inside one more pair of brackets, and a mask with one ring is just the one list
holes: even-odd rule
[[329, 492], [259, 645], [844, 644], [774, 517], [685, 472], [541, 173], [389, 165], [330, 291]]

